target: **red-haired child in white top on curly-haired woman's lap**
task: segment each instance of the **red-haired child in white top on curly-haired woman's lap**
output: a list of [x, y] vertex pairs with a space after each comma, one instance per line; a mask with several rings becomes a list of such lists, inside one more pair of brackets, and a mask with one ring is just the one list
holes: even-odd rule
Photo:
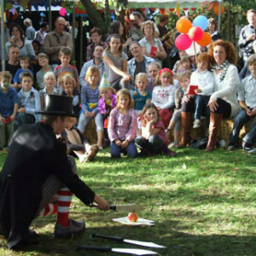
[[197, 69], [191, 75], [190, 84], [197, 85], [198, 89], [195, 90], [195, 121], [193, 128], [201, 126], [201, 115], [205, 113], [206, 125], [209, 127], [210, 119], [206, 112], [208, 111], [208, 102], [212, 95], [214, 87], [213, 74], [208, 70], [210, 68], [210, 55], [207, 52], [201, 53], [197, 58]]

